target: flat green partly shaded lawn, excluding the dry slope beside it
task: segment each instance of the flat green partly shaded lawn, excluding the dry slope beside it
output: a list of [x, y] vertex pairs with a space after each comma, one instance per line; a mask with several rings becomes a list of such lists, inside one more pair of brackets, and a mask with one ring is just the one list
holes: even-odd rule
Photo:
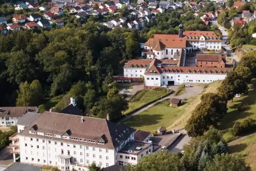
[[161, 102], [148, 110], [135, 115], [124, 123], [143, 131], [155, 132], [157, 127], [172, 125], [184, 113], [184, 106], [170, 107], [169, 101]]

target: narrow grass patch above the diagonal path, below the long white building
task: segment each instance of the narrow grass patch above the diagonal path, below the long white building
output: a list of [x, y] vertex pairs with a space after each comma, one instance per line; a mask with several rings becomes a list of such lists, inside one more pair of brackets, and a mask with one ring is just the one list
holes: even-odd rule
[[132, 97], [129, 102], [129, 109], [127, 109], [124, 114], [132, 112], [141, 106], [160, 98], [161, 96], [167, 95], [167, 93], [172, 90], [166, 88], [156, 88], [152, 90], [142, 90], [136, 96]]

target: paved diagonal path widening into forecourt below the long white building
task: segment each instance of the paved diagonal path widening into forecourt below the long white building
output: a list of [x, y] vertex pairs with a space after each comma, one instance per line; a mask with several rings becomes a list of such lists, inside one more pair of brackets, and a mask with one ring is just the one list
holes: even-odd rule
[[200, 93], [201, 93], [202, 90], [203, 90], [202, 86], [194, 85], [193, 87], [186, 87], [186, 88], [185, 88], [185, 92], [184, 92], [182, 95], [180, 95], [180, 96], [174, 96], [174, 92], [178, 89], [178, 86], [172, 86], [172, 87], [169, 87], [169, 89], [172, 89], [172, 90], [173, 90], [173, 92], [172, 92], [169, 96], [167, 96], [167, 97], [165, 97], [165, 98], [163, 98], [163, 99], [157, 100], [156, 102], [153, 102], [152, 104], [149, 104], [149, 105], [147, 105], [147, 106], [141, 108], [140, 110], [138, 110], [138, 111], [132, 113], [131, 115], [124, 117], [120, 122], [124, 122], [124, 121], [126, 121], [127, 119], [129, 119], [129, 118], [131, 118], [131, 117], [133, 117], [133, 116], [135, 116], [135, 115], [140, 114], [140, 113], [143, 112], [144, 110], [149, 109], [150, 107], [152, 107], [152, 106], [158, 104], [158, 102], [161, 102], [161, 101], [163, 101], [164, 99], [167, 99], [167, 98], [185, 99], [185, 98], [193, 97], [193, 96], [196, 96], [196, 95], [200, 95]]

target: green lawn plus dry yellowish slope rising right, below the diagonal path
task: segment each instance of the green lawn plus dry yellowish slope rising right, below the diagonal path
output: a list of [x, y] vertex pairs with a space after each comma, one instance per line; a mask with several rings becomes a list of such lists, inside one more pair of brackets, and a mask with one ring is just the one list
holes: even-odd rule
[[[219, 84], [220, 81], [210, 83], [203, 93], [216, 92]], [[125, 124], [149, 132], [155, 132], [158, 126], [165, 126], [167, 130], [182, 129], [194, 107], [200, 103], [200, 97], [189, 98], [180, 107], [169, 107], [169, 102], [165, 101], [133, 116]]]

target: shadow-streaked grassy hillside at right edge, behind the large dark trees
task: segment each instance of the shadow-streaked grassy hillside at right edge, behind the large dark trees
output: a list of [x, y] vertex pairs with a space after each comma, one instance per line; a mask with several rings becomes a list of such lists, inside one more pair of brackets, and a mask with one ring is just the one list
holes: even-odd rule
[[[256, 80], [252, 80], [252, 83], [256, 83]], [[249, 90], [248, 95], [244, 95], [241, 98], [234, 98], [233, 102], [228, 102], [228, 112], [227, 115], [221, 119], [218, 128], [223, 131], [224, 139], [229, 142], [237, 139], [229, 132], [236, 121], [241, 122], [245, 118], [256, 119], [256, 89]], [[244, 112], [239, 112], [238, 107], [241, 105], [248, 105], [248, 110]]]

